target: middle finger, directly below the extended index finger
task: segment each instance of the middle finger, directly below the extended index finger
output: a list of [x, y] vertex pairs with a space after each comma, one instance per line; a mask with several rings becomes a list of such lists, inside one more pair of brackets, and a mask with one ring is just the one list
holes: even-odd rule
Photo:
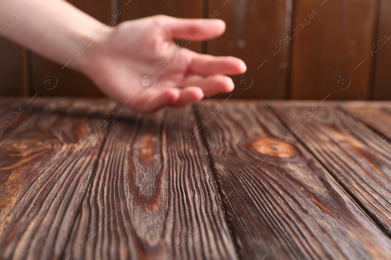
[[198, 86], [203, 90], [205, 97], [210, 97], [221, 92], [231, 92], [235, 84], [230, 77], [224, 75], [209, 77], [190, 75], [183, 82], [183, 87], [187, 86]]

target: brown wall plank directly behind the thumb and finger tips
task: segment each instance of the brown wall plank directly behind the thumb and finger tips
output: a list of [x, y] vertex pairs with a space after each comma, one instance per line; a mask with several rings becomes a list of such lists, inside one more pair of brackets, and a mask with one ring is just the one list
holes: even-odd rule
[[[221, 37], [208, 41], [207, 53], [239, 57], [248, 68], [246, 74], [232, 77], [236, 86], [233, 98], [289, 98], [292, 41], [286, 40], [284, 43], [284, 39], [291, 29], [292, 2], [208, 1], [207, 16], [218, 12], [216, 18], [223, 19], [227, 29]], [[258, 88], [259, 85], [264, 87]], [[225, 99], [229, 95], [221, 94], [218, 97]]]

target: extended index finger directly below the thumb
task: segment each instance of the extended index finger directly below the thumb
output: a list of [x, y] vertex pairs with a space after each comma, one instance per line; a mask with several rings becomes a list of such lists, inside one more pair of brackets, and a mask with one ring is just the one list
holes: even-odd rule
[[216, 74], [237, 75], [243, 74], [247, 66], [243, 60], [236, 57], [216, 57], [208, 54], [192, 52], [192, 60], [189, 66], [191, 74], [210, 76]]

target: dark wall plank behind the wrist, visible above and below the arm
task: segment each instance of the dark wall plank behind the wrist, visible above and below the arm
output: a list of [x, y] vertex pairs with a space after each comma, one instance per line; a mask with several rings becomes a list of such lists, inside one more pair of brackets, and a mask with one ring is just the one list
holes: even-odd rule
[[[68, 2], [103, 23], [108, 23], [108, 19], [116, 11], [113, 12], [110, 0], [69, 0]], [[62, 69], [64, 65], [58, 65], [37, 54], [31, 56], [31, 62], [37, 68], [32, 69], [32, 95], [38, 93], [38, 96], [62, 96], [62, 94], [66, 97], [104, 96], [95, 84], [83, 74], [67, 67]], [[49, 82], [50, 85], [48, 85]], [[52, 88], [55, 83], [57, 83], [56, 87]]]

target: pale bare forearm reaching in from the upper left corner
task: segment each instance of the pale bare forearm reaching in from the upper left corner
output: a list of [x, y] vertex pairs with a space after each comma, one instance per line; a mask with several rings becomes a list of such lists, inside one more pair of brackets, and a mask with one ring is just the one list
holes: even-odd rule
[[82, 70], [87, 54], [75, 49], [83, 50], [79, 44], [90, 39], [92, 34], [97, 35], [94, 30], [103, 24], [63, 0], [30, 1], [0, 1], [0, 37], [11, 39], [59, 64], [65, 65], [72, 60], [67, 66]]

